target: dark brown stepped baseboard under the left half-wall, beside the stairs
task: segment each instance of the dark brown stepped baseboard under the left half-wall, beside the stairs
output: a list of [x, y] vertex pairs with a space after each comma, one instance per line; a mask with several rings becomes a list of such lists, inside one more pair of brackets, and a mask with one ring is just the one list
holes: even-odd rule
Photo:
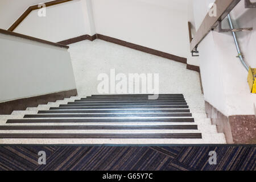
[[11, 114], [14, 110], [26, 110], [27, 107], [37, 107], [39, 104], [47, 104], [48, 102], [63, 100], [64, 98], [69, 98], [71, 96], [77, 96], [76, 89], [2, 102], [0, 103], [0, 114]]

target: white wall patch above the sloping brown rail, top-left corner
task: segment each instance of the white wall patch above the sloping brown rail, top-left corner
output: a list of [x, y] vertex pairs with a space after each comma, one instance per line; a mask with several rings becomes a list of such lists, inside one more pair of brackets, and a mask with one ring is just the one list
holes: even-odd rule
[[47, 0], [1, 0], [0, 1], [0, 28], [7, 30], [29, 6]]

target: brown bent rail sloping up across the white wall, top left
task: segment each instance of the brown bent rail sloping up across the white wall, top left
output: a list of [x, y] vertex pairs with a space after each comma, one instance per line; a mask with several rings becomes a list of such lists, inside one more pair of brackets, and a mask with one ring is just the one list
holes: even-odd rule
[[[46, 5], [46, 7], [48, 7], [48, 6], [58, 5], [60, 3], [64, 3], [68, 1], [73, 1], [73, 0], [57, 0], [57, 1], [46, 2], [44, 4]], [[18, 27], [18, 25], [27, 17], [28, 14], [30, 14], [31, 11], [42, 8], [42, 7], [39, 7], [39, 5], [40, 4], [28, 7], [28, 9], [14, 22], [14, 24], [8, 30], [14, 31], [15, 28]]]

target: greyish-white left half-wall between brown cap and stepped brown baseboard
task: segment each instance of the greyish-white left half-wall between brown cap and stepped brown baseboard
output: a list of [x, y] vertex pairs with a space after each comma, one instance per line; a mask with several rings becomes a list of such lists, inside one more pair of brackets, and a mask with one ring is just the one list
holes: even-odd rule
[[67, 48], [0, 34], [0, 102], [76, 89]]

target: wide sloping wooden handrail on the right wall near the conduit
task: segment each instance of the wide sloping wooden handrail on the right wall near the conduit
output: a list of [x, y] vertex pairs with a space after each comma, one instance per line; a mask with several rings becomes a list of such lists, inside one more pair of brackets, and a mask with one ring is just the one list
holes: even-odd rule
[[209, 13], [205, 16], [203, 23], [197, 30], [195, 37], [190, 43], [190, 51], [193, 49], [207, 36], [207, 34], [218, 25], [219, 20], [223, 20], [231, 10], [241, 0], [216, 0], [214, 3], [217, 7], [217, 16], [210, 16]]

